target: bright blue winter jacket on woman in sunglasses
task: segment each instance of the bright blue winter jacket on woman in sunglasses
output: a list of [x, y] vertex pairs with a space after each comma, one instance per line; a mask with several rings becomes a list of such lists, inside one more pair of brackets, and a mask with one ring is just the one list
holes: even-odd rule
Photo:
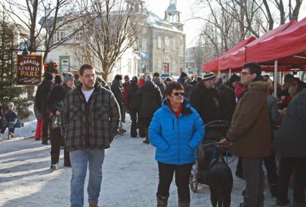
[[183, 165], [196, 160], [196, 148], [204, 137], [205, 126], [198, 112], [184, 99], [176, 118], [167, 99], [156, 110], [149, 127], [149, 139], [156, 147], [155, 159], [164, 164]]

